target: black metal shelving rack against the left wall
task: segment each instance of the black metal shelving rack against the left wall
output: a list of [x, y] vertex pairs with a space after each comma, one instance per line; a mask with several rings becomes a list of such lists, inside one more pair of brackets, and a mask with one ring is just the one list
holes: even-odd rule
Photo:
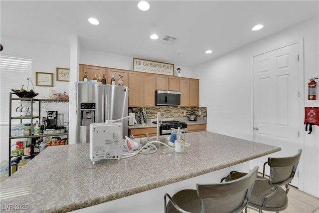
[[[12, 94], [15, 95], [14, 93], [10, 92], [10, 100], [9, 100], [9, 177], [11, 176], [11, 147], [15, 146], [11, 145], [11, 140], [12, 139], [19, 139], [19, 138], [40, 138], [40, 137], [51, 137], [51, 136], [63, 136], [66, 135], [67, 138], [69, 136], [69, 132], [66, 131], [64, 133], [56, 133], [56, 134], [45, 134], [45, 135], [32, 135], [32, 125], [33, 125], [33, 119], [38, 119], [40, 123], [40, 111], [41, 111], [41, 103], [67, 103], [69, 100], [55, 100], [55, 99], [35, 99], [35, 98], [12, 98]], [[30, 101], [31, 106], [30, 106], [30, 116], [14, 116], [12, 117], [12, 101]], [[38, 102], [39, 104], [39, 113], [38, 115], [33, 115], [33, 103]], [[22, 120], [30, 120], [30, 135], [29, 136], [11, 136], [11, 121], [12, 120], [20, 120], [20, 123], [22, 123]], [[33, 153], [33, 147], [32, 147], [32, 139], [31, 139], [31, 150], [30, 150], [30, 158], [32, 159], [34, 156], [37, 154]], [[28, 155], [24, 155], [28, 156]], [[16, 157], [16, 156], [14, 156]]]

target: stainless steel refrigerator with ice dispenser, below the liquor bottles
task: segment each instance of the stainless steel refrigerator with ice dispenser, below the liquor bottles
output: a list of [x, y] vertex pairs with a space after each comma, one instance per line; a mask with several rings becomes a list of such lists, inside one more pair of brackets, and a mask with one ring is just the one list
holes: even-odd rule
[[[90, 124], [128, 116], [129, 89], [125, 86], [77, 84], [76, 143], [90, 142]], [[121, 121], [119, 121], [121, 122]], [[123, 138], [128, 135], [128, 119], [122, 120]]]

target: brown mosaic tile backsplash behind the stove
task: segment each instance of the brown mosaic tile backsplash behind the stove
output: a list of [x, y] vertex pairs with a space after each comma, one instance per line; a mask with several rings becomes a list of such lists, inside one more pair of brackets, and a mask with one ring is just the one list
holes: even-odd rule
[[[174, 106], [160, 106], [160, 107], [129, 107], [129, 112], [135, 113], [136, 117], [140, 117], [140, 112], [146, 109], [148, 119], [155, 119], [158, 112], [161, 112], [161, 118], [183, 118], [188, 117], [190, 113], [194, 113], [198, 118], [207, 118], [206, 107], [174, 107]], [[200, 111], [200, 115], [199, 112]], [[184, 112], [186, 115], [184, 115]]]

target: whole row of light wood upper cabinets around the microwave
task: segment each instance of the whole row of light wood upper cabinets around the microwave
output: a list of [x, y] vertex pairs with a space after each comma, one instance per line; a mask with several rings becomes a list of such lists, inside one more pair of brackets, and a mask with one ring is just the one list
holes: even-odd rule
[[123, 86], [130, 89], [129, 106], [155, 106], [155, 91], [169, 90], [180, 92], [180, 107], [199, 107], [198, 79], [80, 64], [80, 81], [83, 81], [85, 72], [88, 80], [92, 80], [94, 75], [98, 78], [105, 74], [106, 79], [114, 75], [116, 84], [119, 75], [123, 76]]

